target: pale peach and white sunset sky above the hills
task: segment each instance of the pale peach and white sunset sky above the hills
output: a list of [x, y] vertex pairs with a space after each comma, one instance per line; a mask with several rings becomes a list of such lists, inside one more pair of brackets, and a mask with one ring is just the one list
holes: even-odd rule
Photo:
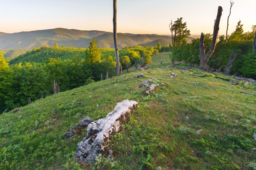
[[[112, 0], [1, 0], [0, 32], [68, 28], [113, 31]], [[219, 34], [226, 34], [230, 0], [117, 0], [117, 32], [170, 34], [171, 20], [183, 17], [191, 35], [212, 33], [218, 6]], [[256, 0], [234, 0], [229, 34], [239, 20], [244, 31], [256, 25]]]

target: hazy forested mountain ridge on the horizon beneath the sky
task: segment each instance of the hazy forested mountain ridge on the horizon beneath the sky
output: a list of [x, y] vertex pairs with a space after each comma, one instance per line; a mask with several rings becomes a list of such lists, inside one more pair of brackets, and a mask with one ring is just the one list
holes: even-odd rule
[[[20, 33], [0, 33], [0, 50], [4, 49], [30, 49], [44, 45], [72, 46], [78, 48], [88, 48], [89, 43], [96, 37], [98, 47], [114, 48], [113, 33], [105, 31], [81, 31], [69, 30], [65, 28], [55, 28], [50, 30], [37, 30]], [[170, 42], [171, 37], [157, 34], [129, 34], [118, 33], [118, 46], [124, 48], [128, 45], [150, 43], [163, 39]], [[189, 40], [188, 40], [189, 41]]]

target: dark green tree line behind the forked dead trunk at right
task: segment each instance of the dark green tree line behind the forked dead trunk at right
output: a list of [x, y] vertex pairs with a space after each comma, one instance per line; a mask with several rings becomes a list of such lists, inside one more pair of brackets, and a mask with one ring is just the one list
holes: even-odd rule
[[[232, 7], [233, 3], [230, 4]], [[252, 26], [252, 31], [244, 32], [243, 24], [239, 20], [232, 34], [218, 37], [221, 12], [222, 8], [219, 7], [213, 34], [202, 33], [200, 38], [192, 40], [191, 43], [186, 41], [190, 31], [182, 18], [178, 18], [174, 24], [171, 21], [173, 48], [170, 59], [206, 70], [211, 68], [223, 71], [227, 75], [238, 74], [256, 78], [256, 55], [252, 49], [255, 49], [256, 25]]]

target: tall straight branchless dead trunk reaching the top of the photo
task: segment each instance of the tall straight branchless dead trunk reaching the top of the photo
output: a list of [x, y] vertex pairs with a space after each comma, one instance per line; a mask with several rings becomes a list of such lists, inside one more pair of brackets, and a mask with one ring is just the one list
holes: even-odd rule
[[115, 46], [115, 61], [116, 61], [116, 75], [119, 75], [119, 52], [116, 42], [116, 0], [113, 0], [114, 16], [113, 16], [113, 33], [114, 33], [114, 46]]

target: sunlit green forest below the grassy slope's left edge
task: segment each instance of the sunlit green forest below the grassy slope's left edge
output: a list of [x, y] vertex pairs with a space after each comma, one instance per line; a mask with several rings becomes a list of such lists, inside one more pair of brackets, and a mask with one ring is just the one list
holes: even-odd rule
[[[19, 62], [19, 64], [10, 64], [12, 61], [5, 59], [0, 52], [0, 113], [7, 108], [23, 106], [30, 103], [29, 101], [52, 95], [53, 81], [58, 84], [59, 91], [62, 92], [114, 76], [116, 68], [115, 57], [112, 57], [114, 51], [104, 51], [96, 44], [97, 41], [94, 39], [88, 49], [58, 47], [57, 44], [54, 47], [38, 47], [30, 52], [30, 55], [36, 56], [30, 58], [32, 62]], [[67, 49], [68, 51], [65, 52]], [[72, 55], [70, 51], [73, 51]], [[120, 52], [119, 66], [128, 71], [132, 64], [136, 64], [137, 67], [149, 64], [152, 54], [157, 53], [158, 50], [153, 47], [126, 47]], [[46, 61], [34, 62], [40, 54], [44, 54], [43, 58], [47, 58]]]

